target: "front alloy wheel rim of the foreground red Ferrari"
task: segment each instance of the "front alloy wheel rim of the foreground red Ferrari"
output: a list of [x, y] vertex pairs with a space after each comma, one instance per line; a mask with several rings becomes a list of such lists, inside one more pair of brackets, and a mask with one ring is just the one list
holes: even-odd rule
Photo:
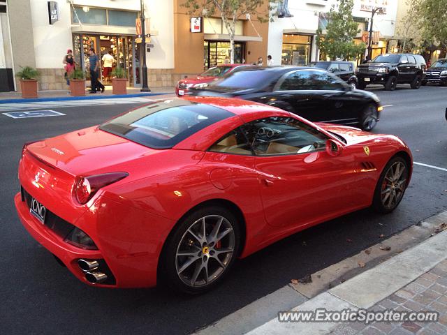
[[406, 188], [407, 171], [404, 163], [397, 161], [388, 168], [381, 186], [381, 202], [386, 209], [399, 204]]

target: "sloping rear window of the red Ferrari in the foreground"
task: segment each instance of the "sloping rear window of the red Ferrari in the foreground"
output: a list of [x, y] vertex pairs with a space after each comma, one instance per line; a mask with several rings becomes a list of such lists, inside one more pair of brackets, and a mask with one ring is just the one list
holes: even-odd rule
[[154, 149], [168, 149], [193, 133], [234, 114], [218, 107], [170, 100], [146, 105], [99, 128]]

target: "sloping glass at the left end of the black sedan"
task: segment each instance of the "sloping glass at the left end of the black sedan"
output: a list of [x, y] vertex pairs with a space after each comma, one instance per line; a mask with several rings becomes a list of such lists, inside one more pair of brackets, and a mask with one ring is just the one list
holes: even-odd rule
[[272, 82], [273, 72], [268, 69], [239, 70], [223, 77], [217, 82], [213, 82], [208, 87], [221, 87], [231, 89], [251, 89], [263, 87]]

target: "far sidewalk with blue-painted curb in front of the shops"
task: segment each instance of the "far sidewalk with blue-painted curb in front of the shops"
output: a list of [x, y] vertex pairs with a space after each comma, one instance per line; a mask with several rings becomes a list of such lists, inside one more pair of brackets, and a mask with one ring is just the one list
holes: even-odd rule
[[128, 87], [126, 95], [113, 95], [112, 87], [106, 86], [104, 93], [89, 94], [86, 89], [85, 96], [74, 97], [68, 94], [67, 90], [61, 91], [38, 91], [38, 98], [26, 99], [22, 98], [20, 92], [0, 92], [0, 103], [20, 103], [20, 102], [34, 102], [34, 101], [65, 101], [65, 100], [84, 100], [84, 99], [98, 99], [98, 98], [119, 98], [119, 97], [133, 97], [133, 96], [154, 96], [161, 94], [175, 94], [174, 87], [154, 87], [150, 92], [141, 92], [140, 87]]

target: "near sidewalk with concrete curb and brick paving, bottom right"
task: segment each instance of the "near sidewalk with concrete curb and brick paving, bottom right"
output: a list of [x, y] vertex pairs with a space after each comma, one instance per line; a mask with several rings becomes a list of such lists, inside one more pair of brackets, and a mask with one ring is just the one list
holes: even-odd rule
[[[421, 233], [425, 240], [405, 251], [397, 251], [393, 257], [369, 269], [362, 264], [366, 271], [335, 287], [318, 292], [308, 288], [300, 290], [299, 286], [308, 285], [304, 283], [286, 285], [196, 334], [447, 334], [447, 211], [419, 226], [421, 228], [408, 228], [409, 236], [414, 232]], [[393, 238], [389, 239], [388, 245], [395, 247], [391, 244], [396, 241]], [[405, 234], [402, 238], [405, 239]], [[353, 259], [357, 262], [356, 256]], [[349, 260], [340, 263], [332, 267], [347, 267]], [[330, 272], [322, 270], [318, 272], [321, 274], [312, 276], [321, 277]], [[317, 293], [309, 299], [307, 292]], [[279, 322], [277, 317], [279, 311], [315, 311], [317, 308], [338, 312], [346, 308], [351, 311], [360, 308], [367, 311], [434, 311], [439, 313], [439, 320], [366, 325], [363, 322]]]

